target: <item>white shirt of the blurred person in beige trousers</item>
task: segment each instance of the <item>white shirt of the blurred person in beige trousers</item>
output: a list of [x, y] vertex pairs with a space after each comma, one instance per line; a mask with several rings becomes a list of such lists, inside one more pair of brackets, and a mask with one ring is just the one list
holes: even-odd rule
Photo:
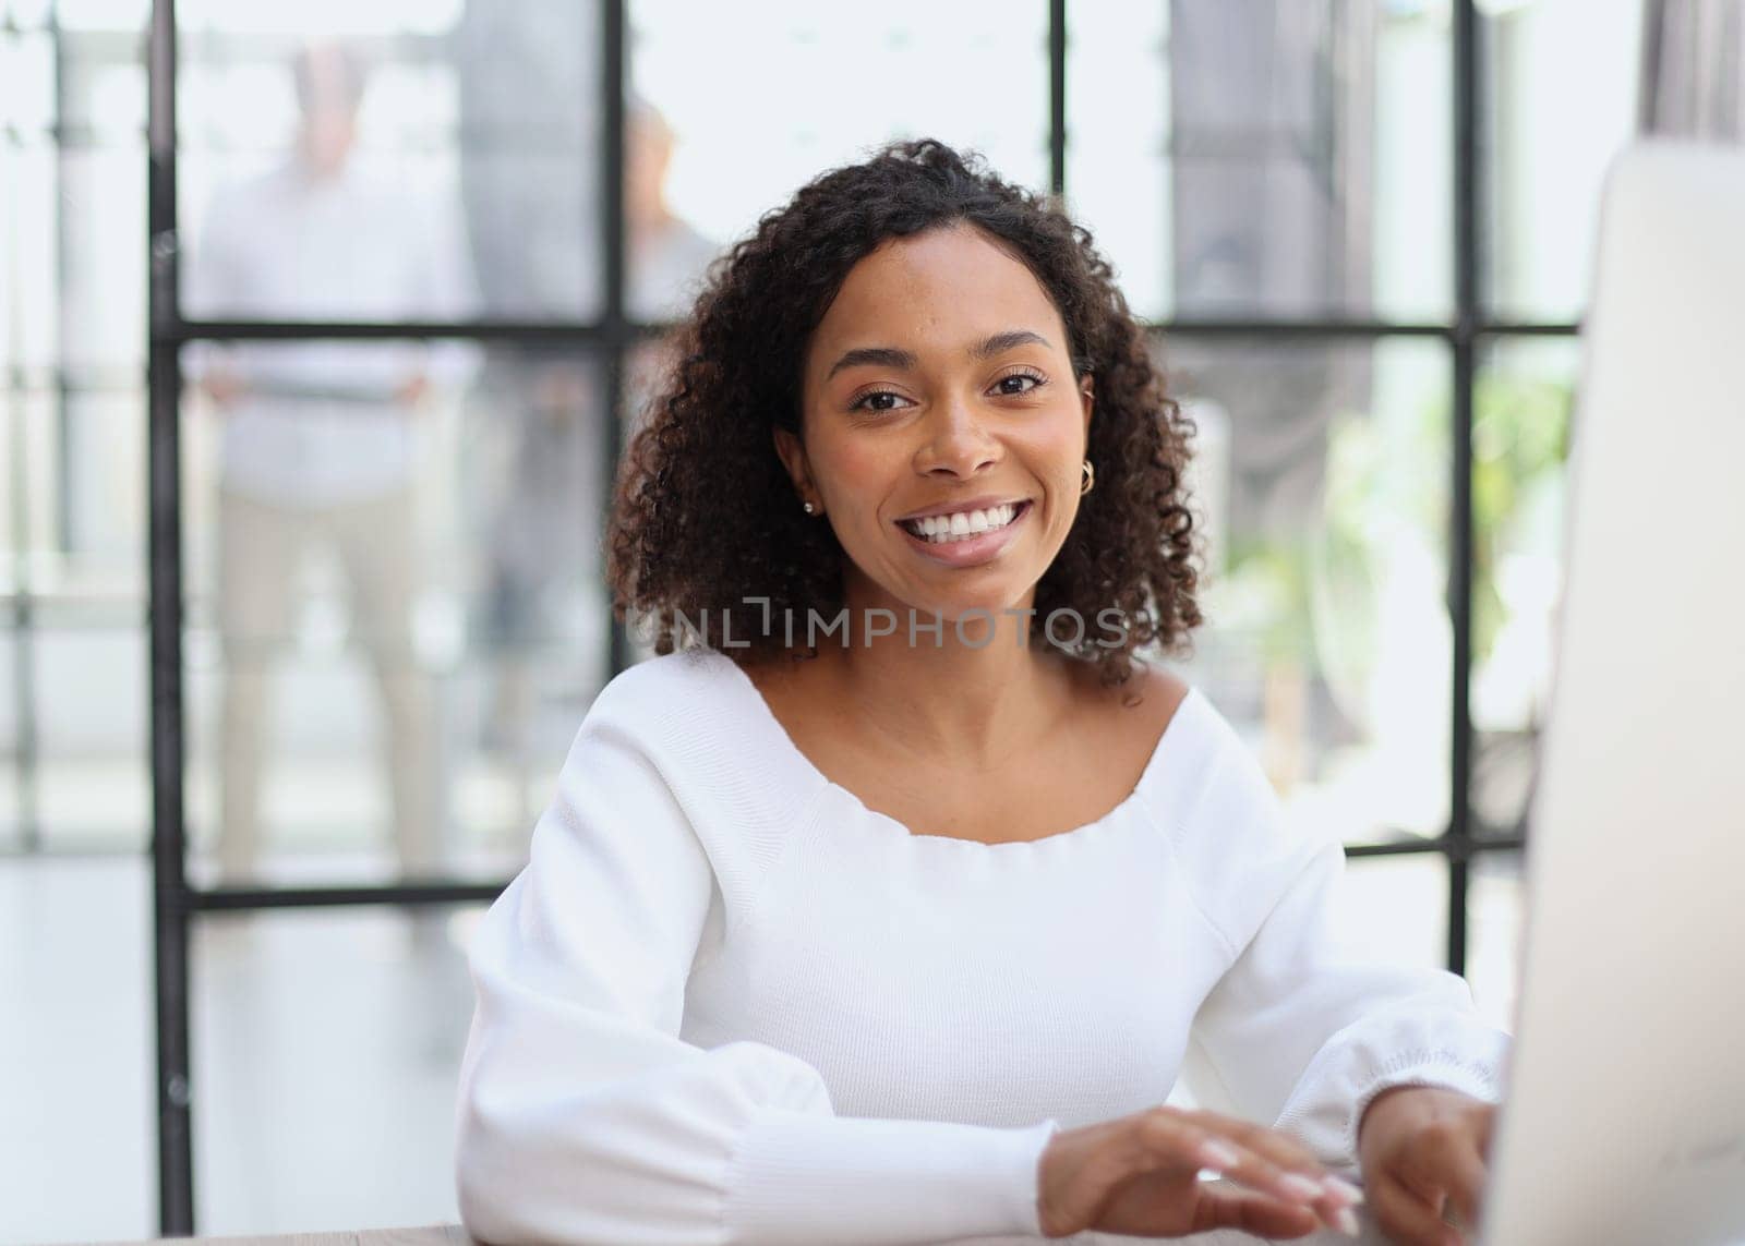
[[[356, 157], [312, 178], [298, 157], [222, 188], [187, 269], [192, 319], [464, 319], [476, 293], [452, 213]], [[476, 370], [461, 342], [201, 342], [190, 377], [244, 384], [222, 435], [225, 487], [286, 506], [365, 501], [410, 483], [414, 377], [454, 387]]]

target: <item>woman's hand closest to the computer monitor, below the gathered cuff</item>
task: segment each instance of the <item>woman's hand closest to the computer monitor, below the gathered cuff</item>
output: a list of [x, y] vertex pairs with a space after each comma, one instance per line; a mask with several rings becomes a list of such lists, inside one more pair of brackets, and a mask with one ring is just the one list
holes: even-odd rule
[[1377, 1227], [1401, 1246], [1461, 1246], [1447, 1222], [1478, 1227], [1495, 1106], [1457, 1091], [1396, 1085], [1358, 1126], [1363, 1188]]

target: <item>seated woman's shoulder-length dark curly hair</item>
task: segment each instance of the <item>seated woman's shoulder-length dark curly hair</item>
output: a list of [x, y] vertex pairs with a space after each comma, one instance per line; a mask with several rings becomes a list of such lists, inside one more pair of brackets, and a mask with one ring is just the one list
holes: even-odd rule
[[[1108, 639], [1056, 646], [1099, 663], [1105, 686], [1127, 682], [1139, 646], [1187, 644], [1202, 621], [1202, 550], [1181, 482], [1195, 424], [1166, 394], [1145, 328], [1089, 230], [1052, 199], [988, 171], [977, 152], [921, 138], [831, 169], [764, 213], [710, 264], [677, 326], [677, 363], [639, 414], [606, 532], [612, 614], [630, 623], [633, 611], [639, 626], [654, 625], [656, 653], [679, 647], [681, 616], [695, 626], [731, 609], [735, 646], [724, 653], [735, 661], [817, 656], [813, 646], [796, 653], [780, 626], [763, 630], [761, 611], [745, 609], [747, 599], [770, 599], [763, 618], [806, 620], [808, 609], [834, 618], [843, 607], [843, 548], [796, 503], [773, 429], [803, 438], [806, 351], [850, 269], [886, 239], [958, 223], [1035, 274], [1066, 326], [1075, 373], [1094, 375], [1087, 452], [1096, 487], [1037, 585], [1033, 637], [1054, 609], [1082, 620], [1119, 609], [1119, 647]], [[754, 626], [742, 628], [747, 614]]]

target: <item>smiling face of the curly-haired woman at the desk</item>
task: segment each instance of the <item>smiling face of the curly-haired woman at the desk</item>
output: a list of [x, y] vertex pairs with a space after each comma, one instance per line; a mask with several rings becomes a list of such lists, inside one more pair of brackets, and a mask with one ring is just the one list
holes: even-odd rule
[[[801, 394], [804, 448], [777, 429], [777, 450], [848, 553], [850, 602], [1030, 604], [1078, 513], [1092, 403], [1030, 269], [963, 225], [885, 243], [813, 333]], [[906, 522], [935, 515], [970, 532]]]

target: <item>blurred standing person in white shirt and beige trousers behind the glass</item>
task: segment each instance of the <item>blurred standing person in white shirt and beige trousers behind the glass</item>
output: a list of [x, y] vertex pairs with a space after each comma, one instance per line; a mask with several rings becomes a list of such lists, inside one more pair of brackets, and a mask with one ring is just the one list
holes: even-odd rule
[[[344, 45], [302, 49], [300, 126], [277, 168], [225, 187], [188, 269], [204, 318], [455, 319], [471, 274], [428, 195], [352, 159], [365, 65]], [[190, 372], [223, 414], [218, 503], [222, 881], [255, 874], [270, 663], [302, 606], [305, 557], [337, 555], [352, 637], [380, 696], [393, 841], [405, 874], [438, 867], [441, 801], [433, 691], [419, 668], [415, 461], [435, 386], [459, 384], [466, 347], [408, 342], [211, 346]]]

